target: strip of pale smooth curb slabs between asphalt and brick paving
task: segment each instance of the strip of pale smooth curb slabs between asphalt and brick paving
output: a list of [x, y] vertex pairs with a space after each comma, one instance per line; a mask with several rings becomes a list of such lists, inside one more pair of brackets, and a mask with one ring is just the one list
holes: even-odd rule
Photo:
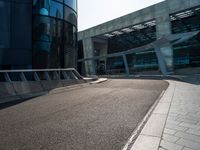
[[[169, 87], [160, 97], [157, 105], [154, 104], [155, 108], [146, 119], [147, 121], [142, 126], [143, 128], [141, 129], [141, 132], [137, 134], [137, 138], [135, 140], [132, 140], [133, 144], [130, 143], [131, 145], [129, 145], [127, 149], [123, 150], [157, 150], [159, 148], [175, 87], [176, 84], [169, 81]], [[149, 111], [151, 111], [151, 109]]]

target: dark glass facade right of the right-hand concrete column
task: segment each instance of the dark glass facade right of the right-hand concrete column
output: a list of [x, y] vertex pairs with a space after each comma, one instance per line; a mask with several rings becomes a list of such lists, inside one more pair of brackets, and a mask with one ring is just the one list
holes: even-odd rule
[[[200, 30], [200, 8], [192, 8], [171, 15], [172, 34]], [[200, 34], [173, 46], [174, 68], [200, 66]]]

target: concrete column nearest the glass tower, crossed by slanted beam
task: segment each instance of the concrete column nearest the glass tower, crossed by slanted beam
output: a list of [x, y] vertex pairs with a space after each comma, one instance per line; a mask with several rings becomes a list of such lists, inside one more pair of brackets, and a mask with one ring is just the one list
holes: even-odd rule
[[[94, 57], [94, 45], [93, 45], [92, 38], [83, 39], [83, 53], [84, 53], [84, 58]], [[86, 72], [86, 75], [96, 74], [94, 60], [85, 61], [85, 72]]]

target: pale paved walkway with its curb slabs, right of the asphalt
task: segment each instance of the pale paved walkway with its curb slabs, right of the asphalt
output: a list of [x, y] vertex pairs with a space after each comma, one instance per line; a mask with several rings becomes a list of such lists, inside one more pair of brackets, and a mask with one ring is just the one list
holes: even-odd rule
[[200, 150], [199, 82], [168, 82], [131, 150]]

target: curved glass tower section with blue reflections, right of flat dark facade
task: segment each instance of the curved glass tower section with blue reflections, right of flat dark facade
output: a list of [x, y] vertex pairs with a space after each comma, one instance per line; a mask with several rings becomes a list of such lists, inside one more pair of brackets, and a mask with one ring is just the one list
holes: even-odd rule
[[33, 0], [33, 68], [75, 67], [76, 0]]

